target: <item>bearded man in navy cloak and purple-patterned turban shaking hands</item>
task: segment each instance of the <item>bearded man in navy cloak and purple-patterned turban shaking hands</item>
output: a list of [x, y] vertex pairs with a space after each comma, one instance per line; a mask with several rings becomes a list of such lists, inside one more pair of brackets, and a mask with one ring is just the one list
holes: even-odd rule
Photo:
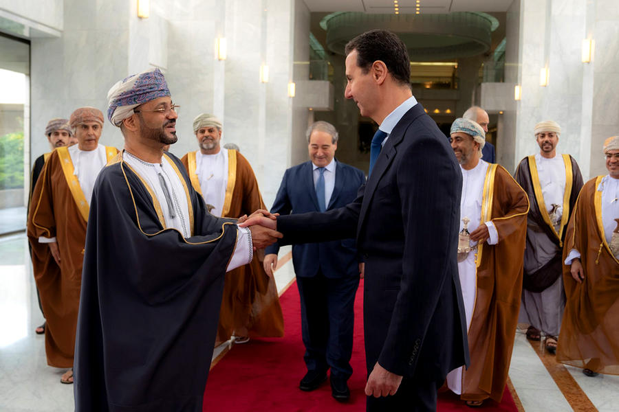
[[202, 411], [224, 273], [281, 235], [208, 214], [180, 160], [162, 150], [177, 141], [178, 106], [159, 69], [116, 83], [108, 100], [124, 150], [92, 195], [75, 408]]

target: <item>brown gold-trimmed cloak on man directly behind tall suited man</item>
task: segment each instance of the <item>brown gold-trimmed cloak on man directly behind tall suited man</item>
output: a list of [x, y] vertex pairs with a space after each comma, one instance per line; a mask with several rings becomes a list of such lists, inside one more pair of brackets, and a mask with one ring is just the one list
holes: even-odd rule
[[475, 309], [468, 329], [470, 366], [463, 370], [463, 400], [501, 402], [518, 323], [528, 209], [528, 198], [512, 176], [500, 165], [488, 165], [480, 221], [492, 220], [499, 242], [482, 244], [477, 250]]

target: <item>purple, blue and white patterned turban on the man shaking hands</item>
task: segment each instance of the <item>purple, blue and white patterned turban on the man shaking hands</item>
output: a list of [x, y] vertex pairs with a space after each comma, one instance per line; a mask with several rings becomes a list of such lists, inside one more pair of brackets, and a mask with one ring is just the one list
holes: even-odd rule
[[120, 126], [124, 119], [133, 115], [137, 106], [170, 95], [166, 78], [159, 69], [133, 74], [107, 92], [107, 118], [114, 126]]

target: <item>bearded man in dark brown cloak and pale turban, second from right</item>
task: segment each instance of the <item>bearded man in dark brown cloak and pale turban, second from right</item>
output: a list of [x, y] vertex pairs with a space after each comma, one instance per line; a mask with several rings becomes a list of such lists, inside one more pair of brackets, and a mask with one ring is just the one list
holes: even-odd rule
[[556, 155], [561, 135], [556, 122], [536, 124], [534, 135], [540, 152], [525, 157], [515, 176], [530, 204], [519, 321], [530, 325], [527, 338], [532, 341], [539, 341], [543, 332], [544, 346], [554, 354], [565, 307], [563, 238], [583, 176], [572, 156]]

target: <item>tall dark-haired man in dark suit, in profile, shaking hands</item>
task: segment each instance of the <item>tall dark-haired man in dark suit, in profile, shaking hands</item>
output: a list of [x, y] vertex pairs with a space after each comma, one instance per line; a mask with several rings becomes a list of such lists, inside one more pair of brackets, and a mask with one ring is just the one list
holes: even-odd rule
[[365, 262], [367, 410], [435, 411], [448, 371], [468, 365], [457, 268], [462, 175], [411, 93], [400, 38], [372, 30], [345, 51], [345, 97], [380, 125], [365, 191], [345, 207], [279, 216], [271, 226], [283, 244], [356, 237]]

